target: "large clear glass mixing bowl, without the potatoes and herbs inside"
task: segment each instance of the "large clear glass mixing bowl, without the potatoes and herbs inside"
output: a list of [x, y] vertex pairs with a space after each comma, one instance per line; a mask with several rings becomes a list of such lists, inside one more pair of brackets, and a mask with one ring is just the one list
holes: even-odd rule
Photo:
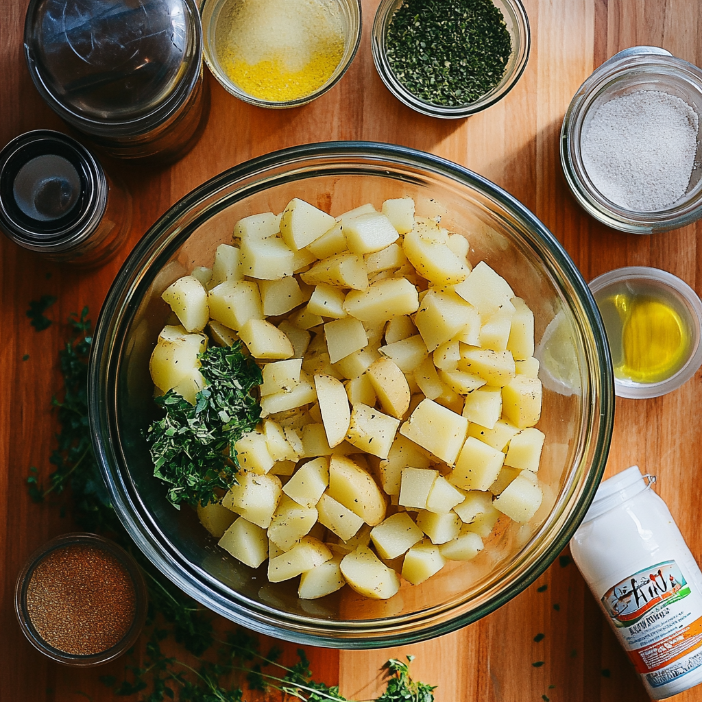
[[[280, 212], [300, 197], [338, 214], [409, 195], [418, 214], [442, 215], [534, 310], [546, 435], [543, 505], [528, 524], [498, 522], [470, 562], [450, 562], [388, 601], [343, 588], [299, 600], [218, 548], [190, 508], [166, 501], [143, 431], [156, 415], [149, 358], [169, 308], [161, 292], [210, 265], [234, 223]], [[93, 440], [112, 503], [138, 546], [195, 600], [248, 628], [305, 644], [389, 647], [427, 639], [489, 614], [564, 548], [590, 505], [607, 459], [614, 394], [600, 314], [567, 253], [527, 208], [481, 176], [422, 152], [376, 143], [293, 147], [231, 168], [176, 203], [135, 246], [102, 307], [88, 380]]]

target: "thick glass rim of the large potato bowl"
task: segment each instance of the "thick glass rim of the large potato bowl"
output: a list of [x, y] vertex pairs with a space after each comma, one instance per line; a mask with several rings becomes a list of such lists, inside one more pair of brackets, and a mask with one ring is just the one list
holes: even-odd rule
[[[444, 616], [446, 611], [456, 609], [453, 604], [449, 604], [445, 610], [437, 610], [433, 615], [435, 618], [443, 616], [442, 620], [436, 625], [433, 625], [431, 628], [427, 625], [409, 628], [402, 634], [396, 633], [393, 628], [398, 624], [404, 623], [404, 621], [409, 622], [407, 624], [408, 627], [416, 623], [419, 612], [412, 613], [414, 619], [411, 621], [409, 619], [401, 621], [398, 617], [370, 620], [371, 623], [380, 622], [380, 625], [376, 625], [376, 628], [371, 628], [369, 620], [360, 622], [310, 620], [310, 618], [304, 616], [286, 614], [272, 608], [269, 609], [274, 613], [274, 616], [264, 616], [265, 613], [262, 614], [263, 607], [261, 608], [262, 611], [251, 611], [251, 609], [240, 602], [225, 600], [222, 594], [213, 590], [207, 583], [203, 583], [199, 567], [187, 562], [187, 559], [180, 555], [177, 548], [171, 547], [168, 539], [159, 539], [159, 536], [163, 535], [157, 528], [154, 530], [152, 524], [146, 524], [143, 520], [139, 521], [143, 515], [138, 513], [139, 505], [132, 498], [132, 496], [135, 496], [138, 502], [138, 494], [133, 484], [128, 484], [127, 481], [122, 479], [121, 470], [113, 471], [110, 466], [110, 463], [116, 459], [114, 444], [117, 442], [113, 440], [113, 423], [110, 410], [108, 409], [109, 402], [105, 402], [101, 386], [102, 383], [107, 383], [110, 387], [114, 385], [112, 376], [116, 374], [114, 369], [116, 361], [112, 359], [110, 354], [105, 353], [105, 350], [106, 348], [107, 350], [112, 350], [115, 327], [124, 326], [123, 318], [129, 319], [131, 317], [128, 310], [126, 310], [125, 300], [130, 297], [130, 292], [138, 286], [145, 275], [145, 270], [147, 270], [147, 267], [138, 264], [143, 263], [144, 260], [150, 260], [150, 263], [153, 263], [158, 258], [159, 252], [163, 253], [163, 249], [166, 246], [170, 246], [173, 251], [177, 250], [178, 246], [184, 243], [185, 238], [183, 238], [183, 228], [176, 227], [173, 229], [173, 225], [190, 208], [204, 203], [208, 197], [215, 196], [223, 187], [231, 187], [232, 184], [240, 183], [245, 178], [260, 176], [269, 168], [284, 165], [291, 166], [291, 164], [300, 164], [300, 162], [310, 161], [310, 159], [322, 159], [324, 157], [337, 159], [352, 159], [356, 157], [370, 161], [393, 161], [397, 166], [419, 167], [486, 194], [510, 214], [521, 220], [522, 223], [528, 224], [534, 235], [543, 240], [545, 248], [548, 248], [550, 255], [555, 260], [555, 272], [562, 274], [578, 293], [578, 302], [581, 303], [582, 314], [593, 330], [591, 335], [593, 367], [596, 362], [597, 367], [601, 371], [599, 395], [595, 392], [590, 392], [590, 397], [583, 399], [585, 411], [589, 412], [589, 415], [592, 417], [590, 424], [596, 429], [590, 437], [594, 445], [590, 470], [588, 475], [583, 478], [581, 495], [577, 501], [574, 501], [568, 516], [561, 515], [559, 524], [554, 527], [555, 536], [552, 542], [548, 545], [543, 545], [541, 555], [533, 563], [524, 567], [524, 571], [519, 578], [515, 578], [515, 581], [510, 585], [503, 588], [496, 595], [491, 596], [482, 606], [458, 615]], [[201, 223], [201, 220], [198, 220], [198, 223]], [[164, 244], [164, 241], [159, 241], [159, 239], [164, 238], [164, 231], [170, 232], [166, 237], [166, 244]], [[180, 239], [178, 238], [179, 235]], [[177, 241], [178, 246], [173, 244], [174, 241]], [[117, 355], [117, 359], [119, 360], [119, 355]], [[588, 399], [590, 400], [589, 404]], [[102, 306], [93, 336], [93, 348], [88, 369], [88, 413], [95, 456], [98, 460], [102, 477], [105, 479], [107, 488], [110, 491], [119, 519], [154, 566], [161, 570], [178, 587], [217, 614], [225, 616], [239, 625], [253, 628], [265, 635], [316, 646], [369, 649], [397, 646], [398, 644], [426, 640], [450, 633], [498, 609], [498, 607], [501, 607], [512, 597], [522, 592], [524, 588], [527, 588], [530, 583], [543, 574], [543, 571], [548, 568], [559, 552], [567, 546], [572, 534], [585, 516], [585, 512], [587, 512], [590, 502], [595, 495], [595, 490], [602, 478], [614, 425], [614, 380], [611, 374], [611, 360], [609, 358], [609, 347], [607, 346], [604, 326], [602, 325], [597, 305], [595, 305], [592, 298], [592, 293], [590, 293], [590, 289], [585, 284], [583, 277], [561, 244], [528, 208], [486, 178], [473, 173], [468, 168], [433, 154], [413, 150], [409, 147], [383, 143], [364, 141], [326, 142], [289, 147], [270, 154], [264, 154], [229, 168], [185, 195], [150, 227], [150, 230], [134, 247], [119, 274], [117, 274]], [[104, 443], [101, 443], [100, 439], [103, 435], [107, 438]], [[117, 461], [117, 464], [119, 465], [119, 461]], [[119, 478], [119, 482], [115, 479], [116, 477]], [[256, 616], [252, 616], [253, 614]], [[300, 626], [300, 622], [307, 628]], [[287, 624], [293, 624], [297, 628], [284, 626]], [[334, 626], [342, 630], [342, 633], [336, 634], [332, 629]]]

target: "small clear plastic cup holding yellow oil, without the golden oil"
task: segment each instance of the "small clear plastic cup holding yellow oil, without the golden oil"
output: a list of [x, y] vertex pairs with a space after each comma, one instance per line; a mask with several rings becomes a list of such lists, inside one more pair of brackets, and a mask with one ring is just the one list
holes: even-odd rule
[[[604, 273], [590, 282], [607, 331], [614, 366], [617, 397], [641, 399], [659, 397], [677, 390], [694, 376], [702, 364], [702, 302], [691, 287], [677, 276], [658, 268], [631, 266]], [[653, 300], [670, 307], [682, 330], [680, 357], [661, 369], [663, 377], [648, 382], [626, 372], [624, 322], [612, 304], [614, 296], [625, 300]], [[653, 373], [651, 373], [653, 376]]]

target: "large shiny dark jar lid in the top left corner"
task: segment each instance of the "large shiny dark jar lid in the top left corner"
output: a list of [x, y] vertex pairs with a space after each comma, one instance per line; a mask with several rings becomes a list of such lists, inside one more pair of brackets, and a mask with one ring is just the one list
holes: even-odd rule
[[187, 100], [201, 69], [194, 0], [31, 0], [25, 55], [41, 96], [85, 133], [149, 132]]

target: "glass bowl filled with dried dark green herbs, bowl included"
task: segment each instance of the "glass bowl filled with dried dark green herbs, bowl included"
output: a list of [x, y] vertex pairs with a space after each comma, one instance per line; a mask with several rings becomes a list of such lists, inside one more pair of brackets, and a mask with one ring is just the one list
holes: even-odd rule
[[529, 59], [520, 0], [382, 0], [371, 48], [395, 97], [428, 117], [485, 110], [517, 84]]

